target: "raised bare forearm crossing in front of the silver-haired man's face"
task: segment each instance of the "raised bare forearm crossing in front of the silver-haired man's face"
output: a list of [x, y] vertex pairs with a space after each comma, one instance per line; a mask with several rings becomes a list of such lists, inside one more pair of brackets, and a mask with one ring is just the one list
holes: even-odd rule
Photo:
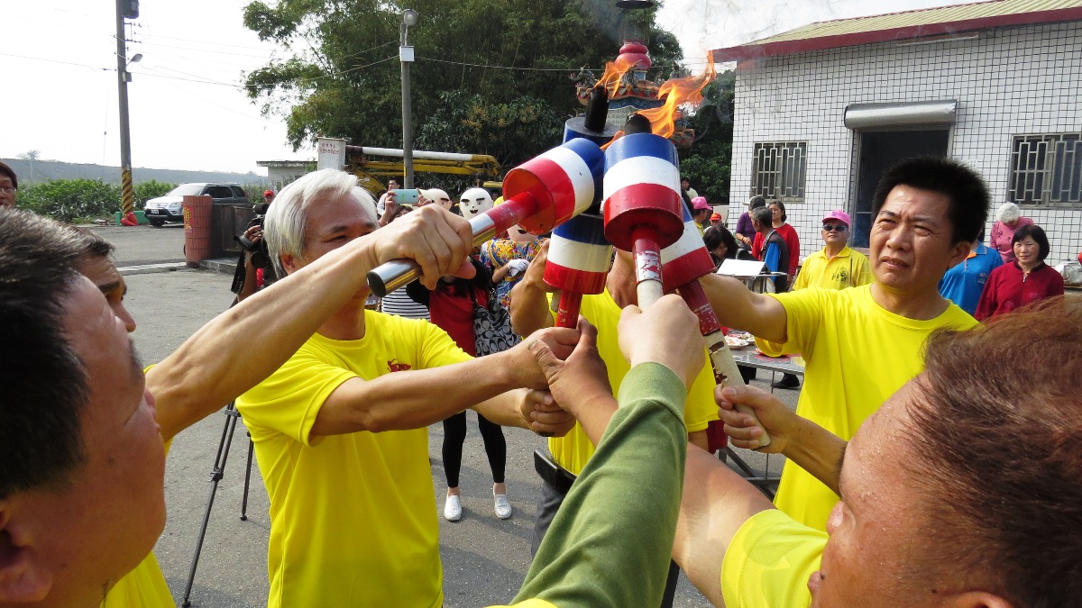
[[219, 315], [151, 368], [147, 387], [162, 435], [176, 435], [281, 367], [367, 287], [374, 262], [369, 241], [357, 239]]

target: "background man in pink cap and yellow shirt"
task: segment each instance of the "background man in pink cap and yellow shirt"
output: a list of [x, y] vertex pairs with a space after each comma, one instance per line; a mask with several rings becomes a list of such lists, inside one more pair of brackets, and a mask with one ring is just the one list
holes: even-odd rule
[[[801, 273], [796, 275], [793, 291], [807, 288], [845, 289], [872, 282], [872, 272], [868, 257], [849, 249], [849, 214], [835, 209], [822, 219], [822, 240], [826, 242], [804, 260]], [[796, 375], [787, 373], [771, 386], [775, 388], [796, 388]]]

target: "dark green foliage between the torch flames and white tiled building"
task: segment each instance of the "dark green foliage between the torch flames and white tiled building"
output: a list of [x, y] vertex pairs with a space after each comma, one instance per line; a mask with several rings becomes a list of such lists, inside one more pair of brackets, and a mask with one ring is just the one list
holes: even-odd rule
[[703, 90], [702, 105], [688, 120], [695, 129], [695, 144], [679, 150], [681, 173], [710, 204], [729, 201], [734, 82], [735, 75], [728, 70]]

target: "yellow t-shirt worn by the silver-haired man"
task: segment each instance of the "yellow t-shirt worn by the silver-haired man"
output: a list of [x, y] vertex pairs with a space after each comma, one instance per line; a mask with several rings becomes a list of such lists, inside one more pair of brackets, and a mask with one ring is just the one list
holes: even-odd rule
[[470, 356], [425, 321], [366, 310], [365, 323], [360, 340], [313, 335], [237, 399], [270, 498], [270, 607], [444, 602], [427, 429], [309, 433], [346, 380]]

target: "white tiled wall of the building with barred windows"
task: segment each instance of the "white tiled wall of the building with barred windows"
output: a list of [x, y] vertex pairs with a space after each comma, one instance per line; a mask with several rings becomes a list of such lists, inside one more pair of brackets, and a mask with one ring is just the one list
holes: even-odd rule
[[[755, 142], [808, 143], [804, 202], [787, 203], [802, 256], [819, 249], [819, 220], [855, 207], [854, 146], [842, 123], [858, 103], [958, 100], [949, 156], [980, 172], [995, 209], [1006, 201], [1011, 141], [1082, 130], [1082, 22], [981, 31], [976, 40], [894, 42], [742, 62], [737, 68], [729, 200], [736, 217], [751, 191]], [[1048, 262], [1082, 251], [1082, 206], [1022, 207], [1048, 234]], [[731, 224], [731, 223], [730, 223]]]

